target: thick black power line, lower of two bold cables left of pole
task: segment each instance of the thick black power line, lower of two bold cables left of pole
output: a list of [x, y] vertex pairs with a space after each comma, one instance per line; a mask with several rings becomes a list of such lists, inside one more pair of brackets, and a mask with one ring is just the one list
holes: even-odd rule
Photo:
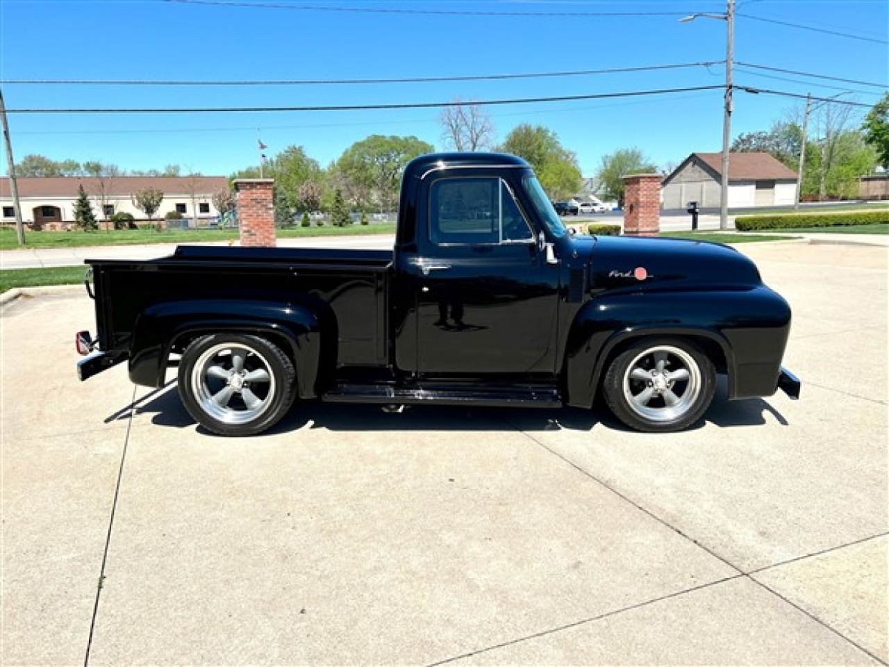
[[[473, 100], [476, 106], [502, 104], [533, 104], [536, 102], [563, 102], [573, 100], [604, 100], [620, 97], [640, 97], [643, 95], [665, 95], [671, 92], [708, 91], [723, 88], [722, 85], [701, 85], [688, 88], [663, 88], [661, 90], [601, 92], [593, 95], [564, 95], [559, 97], [515, 98], [511, 100]], [[403, 104], [359, 104], [317, 107], [203, 107], [203, 108], [11, 108], [10, 114], [203, 114], [203, 113], [264, 113], [268, 111], [374, 111], [402, 108], [445, 108], [459, 107], [466, 102], [407, 102]]]

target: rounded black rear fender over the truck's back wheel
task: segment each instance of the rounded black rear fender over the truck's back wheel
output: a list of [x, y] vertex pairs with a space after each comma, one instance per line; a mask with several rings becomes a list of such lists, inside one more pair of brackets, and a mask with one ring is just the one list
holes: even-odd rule
[[160, 387], [172, 350], [198, 336], [222, 332], [250, 333], [276, 342], [293, 360], [297, 395], [316, 396], [324, 333], [320, 317], [306, 305], [276, 301], [166, 301], [143, 310], [133, 327], [130, 379]]

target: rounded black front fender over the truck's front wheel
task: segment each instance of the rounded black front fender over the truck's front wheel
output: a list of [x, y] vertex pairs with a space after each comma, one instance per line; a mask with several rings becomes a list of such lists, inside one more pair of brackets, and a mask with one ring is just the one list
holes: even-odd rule
[[589, 407], [609, 359], [642, 336], [696, 342], [728, 375], [729, 398], [774, 393], [790, 310], [765, 286], [714, 292], [634, 292], [589, 301], [574, 318], [565, 350], [566, 402]]

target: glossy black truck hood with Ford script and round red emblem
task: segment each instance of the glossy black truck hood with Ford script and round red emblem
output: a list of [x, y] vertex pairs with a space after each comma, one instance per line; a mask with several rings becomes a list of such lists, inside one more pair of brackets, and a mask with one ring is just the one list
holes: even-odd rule
[[[587, 239], [577, 239], [586, 244]], [[753, 261], [727, 245], [675, 238], [595, 237], [589, 287], [634, 291], [762, 285]]]

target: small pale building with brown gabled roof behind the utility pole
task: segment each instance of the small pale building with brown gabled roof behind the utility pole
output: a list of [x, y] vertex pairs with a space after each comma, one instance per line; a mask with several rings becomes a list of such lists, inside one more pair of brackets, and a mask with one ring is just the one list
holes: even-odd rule
[[[696, 201], [716, 208], [722, 185], [722, 153], [692, 153], [661, 181], [663, 208], [685, 209]], [[784, 206], [797, 202], [797, 173], [769, 153], [730, 153], [728, 205], [731, 208]]]

